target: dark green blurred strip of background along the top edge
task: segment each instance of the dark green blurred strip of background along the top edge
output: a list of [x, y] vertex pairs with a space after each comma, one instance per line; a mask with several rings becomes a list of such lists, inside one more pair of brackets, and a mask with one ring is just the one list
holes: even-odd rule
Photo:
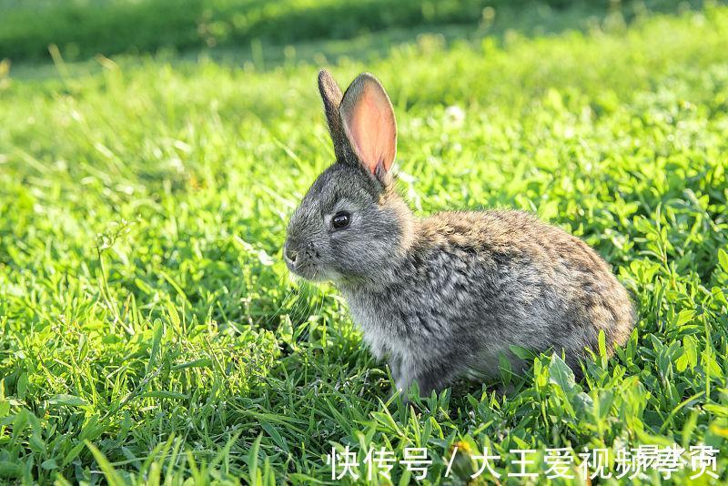
[[[700, 0], [0, 0], [0, 57], [66, 60], [96, 55], [222, 53], [295, 59], [299, 43], [362, 37], [364, 54], [421, 32], [472, 38], [519, 29], [609, 28], [648, 12], [675, 12]], [[606, 24], [605, 24], [606, 22]], [[379, 33], [376, 41], [367, 39]], [[381, 33], [386, 33], [381, 35]], [[286, 47], [267, 53], [266, 48]]]

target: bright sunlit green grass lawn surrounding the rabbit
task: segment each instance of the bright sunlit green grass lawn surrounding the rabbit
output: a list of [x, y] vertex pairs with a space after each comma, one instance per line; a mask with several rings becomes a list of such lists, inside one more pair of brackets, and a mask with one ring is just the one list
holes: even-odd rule
[[[581, 383], [542, 356], [504, 397], [461, 384], [411, 408], [390, 400], [335, 289], [281, 263], [288, 216], [332, 158], [319, 66], [11, 70], [0, 479], [309, 484], [349, 445], [361, 460], [427, 447], [426, 482], [440, 483], [456, 443], [504, 459], [705, 443], [723, 450], [725, 481], [726, 38], [728, 8], [713, 6], [587, 34], [422, 35], [330, 66], [342, 84], [369, 70], [388, 87], [399, 186], [419, 214], [534, 211], [597, 248], [640, 307], [632, 339], [585, 362]], [[472, 467], [461, 456], [450, 480]], [[410, 477], [396, 466], [394, 480]]]

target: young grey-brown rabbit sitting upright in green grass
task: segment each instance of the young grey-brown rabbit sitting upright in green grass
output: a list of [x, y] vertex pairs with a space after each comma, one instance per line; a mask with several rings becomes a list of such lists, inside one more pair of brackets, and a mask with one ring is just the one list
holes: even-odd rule
[[395, 189], [397, 125], [379, 80], [342, 95], [319, 72], [336, 161], [288, 223], [283, 257], [310, 281], [331, 281], [398, 390], [422, 396], [453, 380], [496, 378], [512, 345], [562, 353], [580, 376], [603, 330], [612, 354], [631, 334], [632, 300], [581, 239], [519, 210], [417, 218]]

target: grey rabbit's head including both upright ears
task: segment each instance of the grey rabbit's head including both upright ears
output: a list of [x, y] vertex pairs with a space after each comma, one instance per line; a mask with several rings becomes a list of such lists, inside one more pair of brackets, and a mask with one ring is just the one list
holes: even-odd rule
[[326, 71], [319, 91], [336, 162], [316, 179], [288, 223], [288, 268], [309, 280], [376, 282], [407, 248], [410, 209], [394, 190], [397, 126], [376, 77], [359, 75], [341, 95]]

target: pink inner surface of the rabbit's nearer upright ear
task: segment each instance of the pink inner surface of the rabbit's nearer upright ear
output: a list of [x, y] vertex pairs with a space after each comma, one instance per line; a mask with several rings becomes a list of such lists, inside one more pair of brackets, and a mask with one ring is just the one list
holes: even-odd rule
[[367, 85], [346, 115], [349, 140], [361, 161], [374, 173], [379, 163], [386, 171], [394, 162], [397, 128], [389, 99], [378, 86]]

